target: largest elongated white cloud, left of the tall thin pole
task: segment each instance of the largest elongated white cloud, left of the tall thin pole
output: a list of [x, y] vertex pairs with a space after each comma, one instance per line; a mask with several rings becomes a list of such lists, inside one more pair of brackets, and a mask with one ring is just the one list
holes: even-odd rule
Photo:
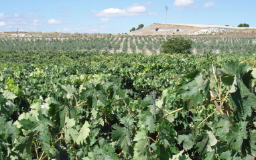
[[[147, 4], [149, 5], [149, 4]], [[139, 5], [135, 3], [125, 9], [119, 8], [108, 8], [103, 11], [91, 11], [97, 17], [130, 17], [130, 16], [139, 16], [147, 13], [147, 9], [144, 5]]]

